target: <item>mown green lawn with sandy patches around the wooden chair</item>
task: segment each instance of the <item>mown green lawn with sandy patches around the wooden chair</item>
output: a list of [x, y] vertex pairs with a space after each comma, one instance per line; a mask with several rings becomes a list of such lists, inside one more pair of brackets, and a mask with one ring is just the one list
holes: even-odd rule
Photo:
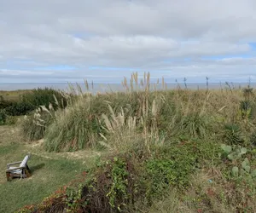
[[[35, 204], [73, 180], [90, 167], [94, 153], [45, 153], [38, 142], [26, 144], [18, 129], [0, 126], [0, 212], [14, 212], [26, 204]], [[6, 181], [6, 164], [20, 161], [32, 153], [28, 165], [32, 177]], [[93, 157], [93, 158], [91, 158]]]

